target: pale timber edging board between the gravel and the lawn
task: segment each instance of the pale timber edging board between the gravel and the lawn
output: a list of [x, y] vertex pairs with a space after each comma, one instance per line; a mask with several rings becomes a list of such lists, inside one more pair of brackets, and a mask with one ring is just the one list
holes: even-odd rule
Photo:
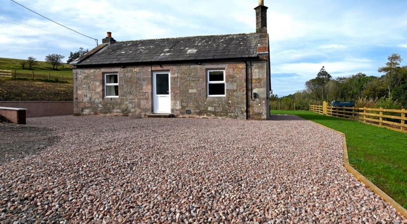
[[[311, 121], [311, 120], [308, 120]], [[328, 128], [322, 124], [319, 124], [315, 121], [311, 121], [314, 124], [317, 124], [321, 127], [324, 127], [326, 129], [329, 129], [331, 131], [335, 131], [338, 134], [343, 136], [343, 149], [344, 149], [344, 167], [346, 170], [351, 173], [356, 179], [358, 179], [360, 182], [364, 183], [367, 187], [369, 187], [374, 193], [378, 194], [383, 200], [385, 200], [387, 203], [393, 205], [393, 207], [405, 218], [407, 218], [407, 209], [398, 204], [394, 199], [392, 199], [390, 196], [388, 196], [383, 190], [381, 190], [379, 187], [374, 185], [371, 181], [369, 181], [365, 176], [363, 176], [360, 172], [358, 172], [355, 168], [353, 168], [349, 164], [349, 156], [347, 155], [347, 146], [346, 146], [346, 135], [345, 133], [342, 133], [340, 131], [336, 131], [334, 129]]]

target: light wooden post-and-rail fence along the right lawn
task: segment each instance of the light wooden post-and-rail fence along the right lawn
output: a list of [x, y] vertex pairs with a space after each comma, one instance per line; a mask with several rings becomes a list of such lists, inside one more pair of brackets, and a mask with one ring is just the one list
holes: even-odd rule
[[332, 107], [324, 101], [323, 106], [309, 105], [312, 112], [346, 119], [407, 133], [406, 109], [393, 110], [366, 107]]

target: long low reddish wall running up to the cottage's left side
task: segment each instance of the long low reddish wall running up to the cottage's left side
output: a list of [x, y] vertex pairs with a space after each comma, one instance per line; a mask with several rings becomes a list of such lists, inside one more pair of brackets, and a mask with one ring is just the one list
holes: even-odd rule
[[26, 117], [72, 115], [73, 101], [0, 101], [0, 107], [27, 109]]

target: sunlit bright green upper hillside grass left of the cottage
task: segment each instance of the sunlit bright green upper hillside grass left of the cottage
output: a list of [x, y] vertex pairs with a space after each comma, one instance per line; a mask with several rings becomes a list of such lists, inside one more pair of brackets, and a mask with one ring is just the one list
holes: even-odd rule
[[[34, 65], [32, 70], [22, 69], [20, 62], [21, 59], [13, 58], [0, 58], [0, 70], [11, 70], [17, 73], [17, 77], [31, 78], [34, 72], [34, 78], [48, 78], [50, 79], [63, 79], [64, 81], [72, 82], [72, 69], [68, 64], [63, 64], [58, 67], [58, 70], [52, 70], [52, 66], [48, 62], [38, 61], [37, 65]], [[27, 67], [27, 66], [26, 66]]]

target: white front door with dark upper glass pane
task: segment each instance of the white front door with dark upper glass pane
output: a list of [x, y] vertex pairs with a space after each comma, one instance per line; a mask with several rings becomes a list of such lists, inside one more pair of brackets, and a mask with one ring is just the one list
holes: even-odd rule
[[168, 72], [153, 73], [154, 113], [171, 113], [170, 75]]

